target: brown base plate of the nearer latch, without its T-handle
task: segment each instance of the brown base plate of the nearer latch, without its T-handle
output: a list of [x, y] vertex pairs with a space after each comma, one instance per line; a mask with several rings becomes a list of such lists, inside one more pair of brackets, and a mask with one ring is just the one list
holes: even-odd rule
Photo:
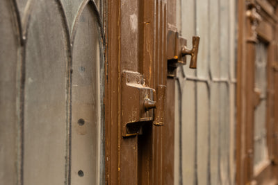
[[154, 119], [154, 110], [144, 106], [146, 98], [154, 100], [154, 91], [140, 73], [122, 73], [122, 136], [142, 134], [142, 125]]

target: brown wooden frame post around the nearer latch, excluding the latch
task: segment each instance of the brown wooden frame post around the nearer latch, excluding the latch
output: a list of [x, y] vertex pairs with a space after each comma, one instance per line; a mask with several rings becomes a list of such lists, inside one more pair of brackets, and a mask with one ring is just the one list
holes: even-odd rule
[[[163, 8], [154, 12], [158, 5]], [[174, 137], [169, 140], [165, 139], [165, 130], [173, 129], [174, 125], [156, 127], [152, 123], [146, 123], [143, 128], [144, 134], [129, 137], [122, 136], [121, 125], [121, 78], [124, 70], [142, 73], [145, 76], [146, 85], [154, 89], [158, 84], [166, 85], [167, 83], [167, 92], [171, 91], [167, 93], [167, 96], [174, 95], [172, 93], [174, 80], [167, 80], [164, 52], [167, 28], [166, 5], [166, 0], [125, 1], [124, 3], [121, 0], [115, 0], [105, 3], [106, 184], [165, 184], [165, 171], [174, 173], [171, 168], [174, 165], [173, 156], [167, 157], [167, 155], [172, 155], [171, 150], [166, 150], [167, 146], [174, 146]], [[132, 11], [134, 11], [134, 19], [138, 21], [138, 28], [133, 35], [129, 27], [129, 17]], [[163, 19], [158, 19], [159, 23], [154, 17], [158, 14], [163, 17]], [[126, 47], [126, 44], [130, 47]], [[129, 52], [135, 53], [133, 58], [130, 58]], [[159, 64], [157, 58], [160, 58]], [[131, 60], [133, 60], [133, 65], [131, 65]], [[159, 71], [156, 68], [158, 65], [163, 66], [163, 70]], [[167, 105], [170, 103], [174, 101], [167, 101]], [[167, 106], [170, 110], [169, 115], [174, 111], [172, 107], [174, 106]], [[167, 122], [174, 123], [173, 119], [173, 116], [167, 116]]]

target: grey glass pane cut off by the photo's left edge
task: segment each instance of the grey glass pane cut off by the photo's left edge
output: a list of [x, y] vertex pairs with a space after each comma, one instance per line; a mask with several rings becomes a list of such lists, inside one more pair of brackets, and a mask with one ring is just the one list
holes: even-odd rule
[[17, 184], [17, 49], [10, 0], [0, 1], [0, 184]]

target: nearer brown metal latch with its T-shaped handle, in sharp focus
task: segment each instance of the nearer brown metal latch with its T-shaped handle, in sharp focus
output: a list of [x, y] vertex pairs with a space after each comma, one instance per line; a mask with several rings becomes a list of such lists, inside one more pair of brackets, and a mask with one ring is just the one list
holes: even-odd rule
[[[166, 86], [158, 85], [156, 91], [145, 86], [140, 73], [122, 73], [122, 136], [142, 134], [142, 125], [153, 121], [164, 125]], [[156, 101], [154, 101], [156, 100]]]

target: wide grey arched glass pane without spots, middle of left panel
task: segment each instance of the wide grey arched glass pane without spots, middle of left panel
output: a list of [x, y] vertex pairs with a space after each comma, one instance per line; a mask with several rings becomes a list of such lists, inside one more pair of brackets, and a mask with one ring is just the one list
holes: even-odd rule
[[24, 184], [65, 183], [70, 124], [65, 27], [56, 1], [34, 3], [26, 37]]

